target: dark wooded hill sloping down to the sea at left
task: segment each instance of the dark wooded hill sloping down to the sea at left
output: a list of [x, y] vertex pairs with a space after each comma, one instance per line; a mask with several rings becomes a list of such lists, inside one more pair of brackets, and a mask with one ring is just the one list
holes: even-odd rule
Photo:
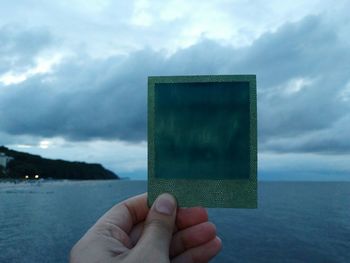
[[46, 159], [39, 155], [10, 150], [4, 146], [0, 146], [0, 152], [14, 158], [7, 164], [6, 171], [0, 166], [0, 179], [24, 179], [26, 175], [30, 179], [35, 175], [39, 175], [39, 178], [72, 180], [119, 179], [115, 173], [105, 169], [101, 164]]

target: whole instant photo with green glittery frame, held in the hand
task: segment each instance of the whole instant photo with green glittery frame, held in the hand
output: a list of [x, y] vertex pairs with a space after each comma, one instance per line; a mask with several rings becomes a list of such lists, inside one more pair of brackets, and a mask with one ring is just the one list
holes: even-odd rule
[[148, 78], [148, 205], [257, 207], [255, 75]]

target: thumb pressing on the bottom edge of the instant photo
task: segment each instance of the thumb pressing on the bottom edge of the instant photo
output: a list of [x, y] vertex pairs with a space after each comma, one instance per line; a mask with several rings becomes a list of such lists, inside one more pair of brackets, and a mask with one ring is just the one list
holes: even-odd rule
[[176, 208], [176, 200], [172, 195], [165, 193], [158, 196], [145, 220], [144, 230], [138, 242], [140, 247], [157, 251], [158, 255], [169, 258]]

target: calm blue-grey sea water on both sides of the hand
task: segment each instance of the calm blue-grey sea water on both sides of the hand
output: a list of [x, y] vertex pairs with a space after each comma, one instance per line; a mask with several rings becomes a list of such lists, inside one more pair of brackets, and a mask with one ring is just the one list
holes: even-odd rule
[[[0, 262], [67, 262], [71, 247], [145, 181], [0, 184]], [[261, 182], [259, 208], [209, 209], [211, 262], [350, 262], [350, 182]]]

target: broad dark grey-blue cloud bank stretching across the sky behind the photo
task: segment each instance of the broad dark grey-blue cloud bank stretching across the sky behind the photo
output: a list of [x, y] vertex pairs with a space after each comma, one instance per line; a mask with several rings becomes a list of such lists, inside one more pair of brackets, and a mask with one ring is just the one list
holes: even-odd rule
[[147, 76], [253, 73], [261, 150], [350, 152], [343, 143], [350, 132], [341, 132], [349, 131], [350, 101], [339, 95], [350, 81], [349, 60], [336, 25], [320, 17], [286, 24], [239, 49], [204, 39], [170, 57], [150, 49], [103, 60], [78, 54], [51, 74], [2, 87], [0, 129], [70, 140], [145, 140]]

